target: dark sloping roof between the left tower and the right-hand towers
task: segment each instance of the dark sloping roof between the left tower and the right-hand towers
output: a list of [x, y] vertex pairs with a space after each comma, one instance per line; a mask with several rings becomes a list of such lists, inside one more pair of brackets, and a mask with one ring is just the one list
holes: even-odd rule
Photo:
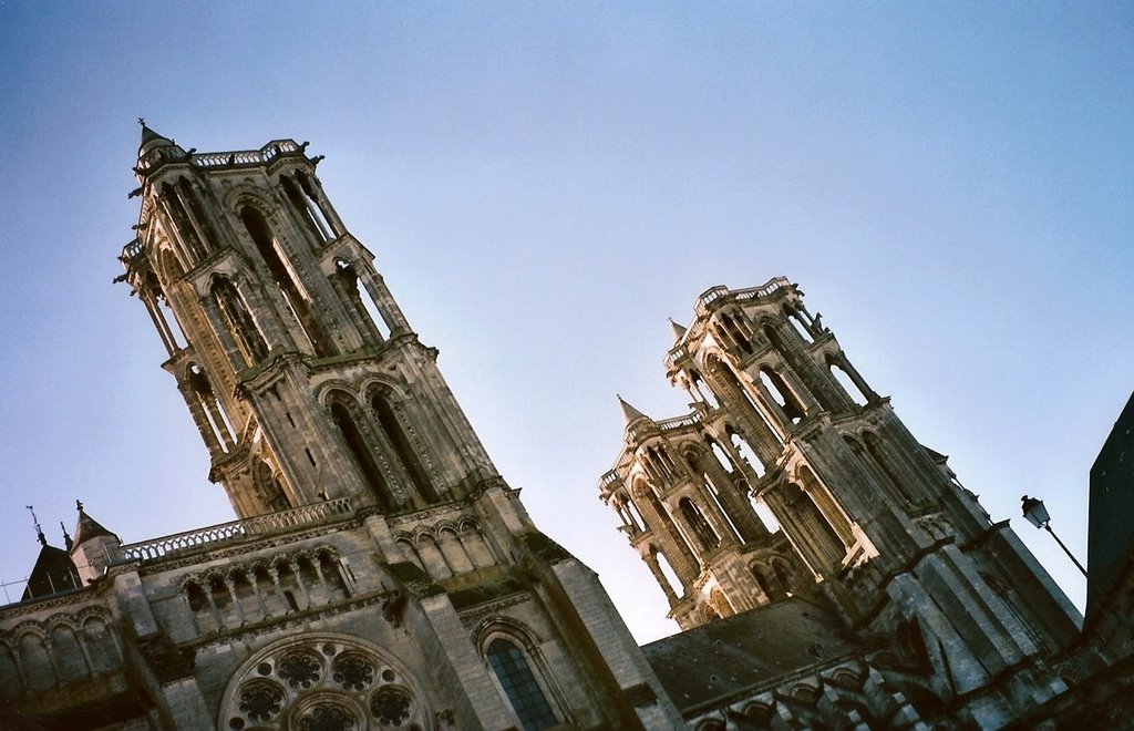
[[642, 652], [684, 714], [865, 649], [837, 617], [793, 597], [660, 639]]

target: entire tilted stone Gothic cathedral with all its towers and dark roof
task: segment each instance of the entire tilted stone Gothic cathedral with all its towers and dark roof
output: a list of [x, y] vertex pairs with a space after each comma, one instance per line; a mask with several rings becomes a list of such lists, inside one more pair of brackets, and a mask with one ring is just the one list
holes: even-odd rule
[[124, 544], [78, 503], [65, 547], [41, 532], [0, 729], [1001, 728], [1114, 660], [782, 278], [674, 324], [687, 415], [621, 401], [600, 496], [683, 630], [638, 647], [306, 147], [143, 125], [119, 281], [236, 520]]

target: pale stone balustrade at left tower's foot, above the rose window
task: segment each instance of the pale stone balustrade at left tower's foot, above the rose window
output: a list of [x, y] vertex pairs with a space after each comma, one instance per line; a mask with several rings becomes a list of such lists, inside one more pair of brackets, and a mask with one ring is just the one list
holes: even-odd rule
[[147, 561], [200, 547], [213, 547], [274, 533], [284, 533], [299, 526], [324, 522], [337, 516], [353, 512], [349, 498], [338, 498], [302, 508], [271, 512], [245, 520], [222, 522], [208, 528], [187, 530], [171, 536], [124, 545], [122, 561]]

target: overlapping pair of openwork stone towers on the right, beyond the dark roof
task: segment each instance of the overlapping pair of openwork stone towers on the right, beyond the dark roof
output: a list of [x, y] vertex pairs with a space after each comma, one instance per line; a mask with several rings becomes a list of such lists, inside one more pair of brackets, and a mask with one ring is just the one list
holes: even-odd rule
[[803, 595], [897, 638], [947, 686], [937, 698], [968, 695], [982, 725], [1065, 687], [1044, 663], [1078, 613], [796, 286], [714, 287], [674, 338], [667, 375], [693, 411], [655, 422], [624, 401], [599, 487], [683, 629]]

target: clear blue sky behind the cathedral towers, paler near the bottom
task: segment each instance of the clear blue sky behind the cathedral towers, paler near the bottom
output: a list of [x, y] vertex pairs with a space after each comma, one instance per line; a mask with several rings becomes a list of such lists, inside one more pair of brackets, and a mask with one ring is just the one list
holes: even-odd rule
[[[785, 274], [1082, 604], [1086, 474], [1134, 389], [1134, 6], [0, 0], [0, 580], [35, 505], [125, 542], [232, 513], [116, 261], [135, 118], [320, 176], [538, 525], [640, 640], [598, 501], [616, 393], [685, 411], [667, 317]], [[2, 595], [0, 595], [2, 601]]]

